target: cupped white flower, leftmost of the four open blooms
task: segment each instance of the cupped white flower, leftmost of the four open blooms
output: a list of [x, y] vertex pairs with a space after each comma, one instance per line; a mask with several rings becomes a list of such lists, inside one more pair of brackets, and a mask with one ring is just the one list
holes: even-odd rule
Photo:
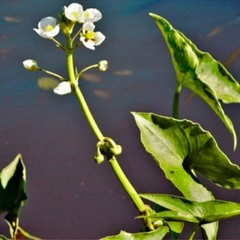
[[46, 17], [38, 23], [38, 29], [34, 28], [33, 30], [43, 38], [52, 38], [59, 33], [60, 27], [56, 18]]

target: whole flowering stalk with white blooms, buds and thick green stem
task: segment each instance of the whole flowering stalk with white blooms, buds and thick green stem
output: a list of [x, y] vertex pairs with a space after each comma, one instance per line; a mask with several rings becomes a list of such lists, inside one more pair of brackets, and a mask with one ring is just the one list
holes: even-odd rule
[[[106, 60], [102, 60], [98, 64], [88, 66], [80, 72], [77, 72], [75, 71], [73, 61], [73, 53], [80, 44], [83, 44], [88, 49], [95, 50], [95, 47], [100, 45], [105, 40], [105, 35], [103, 35], [99, 31], [96, 32], [94, 25], [94, 22], [97, 22], [102, 18], [102, 14], [99, 10], [95, 8], [89, 8], [83, 11], [83, 8], [80, 4], [72, 3], [68, 7], [64, 7], [64, 12], [62, 15], [60, 15], [60, 18], [60, 22], [58, 22], [53, 17], [43, 18], [38, 23], [38, 28], [35, 28], [34, 31], [39, 36], [45, 39], [52, 40], [57, 47], [64, 50], [64, 52], [66, 53], [68, 80], [64, 79], [62, 76], [56, 73], [38, 67], [37, 62], [34, 60], [26, 60], [23, 62], [23, 65], [29, 71], [41, 70], [47, 74], [59, 78], [62, 82], [59, 83], [59, 85], [53, 90], [54, 93], [58, 95], [68, 94], [71, 93], [72, 90], [74, 90], [74, 93], [80, 103], [80, 106], [82, 107], [88, 124], [99, 141], [96, 147], [97, 152], [94, 157], [95, 161], [100, 164], [104, 160], [104, 158], [108, 159], [113, 171], [115, 172], [116, 176], [118, 177], [122, 186], [135, 204], [138, 211], [141, 213], [141, 215], [147, 216], [149, 215], [149, 208], [145, 206], [142, 199], [139, 197], [137, 191], [134, 189], [134, 187], [122, 171], [116, 159], [116, 156], [121, 154], [122, 147], [115, 144], [115, 142], [111, 138], [105, 137], [102, 134], [88, 108], [81, 89], [78, 86], [78, 79], [85, 71], [96, 67], [98, 67], [100, 71], [106, 71], [108, 68], [108, 62]], [[82, 26], [80, 27], [80, 30], [78, 30], [77, 33], [73, 37], [71, 37], [73, 28], [77, 23], [82, 24]], [[65, 46], [63, 46], [54, 38], [60, 30], [66, 37]], [[79, 42], [74, 46], [74, 41], [78, 36]], [[145, 224], [149, 229], [154, 229], [151, 221], [145, 221]]]

